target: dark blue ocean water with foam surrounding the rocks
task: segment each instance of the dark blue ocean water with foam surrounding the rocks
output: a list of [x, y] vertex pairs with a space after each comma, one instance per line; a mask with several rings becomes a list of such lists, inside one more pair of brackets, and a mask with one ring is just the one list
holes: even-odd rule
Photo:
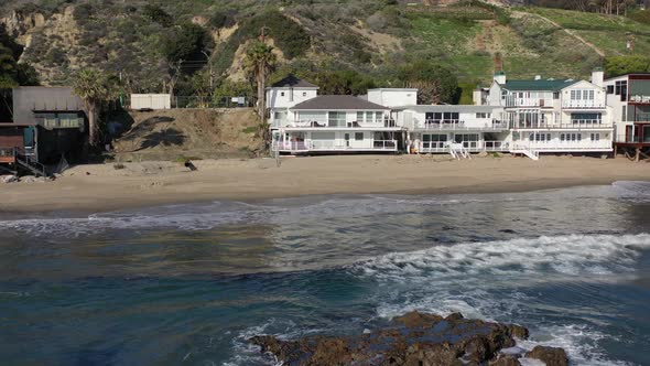
[[[1, 197], [1, 193], [0, 193]], [[57, 217], [63, 216], [63, 217]], [[650, 365], [650, 184], [0, 217], [0, 364], [271, 365], [423, 310]]]

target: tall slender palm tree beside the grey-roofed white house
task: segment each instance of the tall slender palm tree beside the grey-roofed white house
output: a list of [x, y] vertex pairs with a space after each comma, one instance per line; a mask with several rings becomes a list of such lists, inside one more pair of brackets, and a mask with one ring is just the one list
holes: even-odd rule
[[269, 129], [266, 126], [267, 112], [267, 78], [275, 68], [278, 58], [273, 47], [261, 41], [254, 41], [246, 50], [245, 67], [251, 78], [254, 78], [258, 86], [258, 115], [260, 115], [260, 136], [268, 142]]

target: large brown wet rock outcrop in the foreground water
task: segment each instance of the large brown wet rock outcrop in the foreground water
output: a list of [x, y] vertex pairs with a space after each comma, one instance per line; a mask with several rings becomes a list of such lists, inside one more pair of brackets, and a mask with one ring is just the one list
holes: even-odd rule
[[[447, 317], [411, 312], [393, 319], [390, 326], [358, 336], [310, 336], [281, 341], [273, 336], [249, 340], [283, 365], [519, 365], [510, 355], [498, 355], [514, 345], [513, 336], [526, 338], [528, 330], [467, 320], [454, 313]], [[497, 358], [499, 356], [499, 358]]]

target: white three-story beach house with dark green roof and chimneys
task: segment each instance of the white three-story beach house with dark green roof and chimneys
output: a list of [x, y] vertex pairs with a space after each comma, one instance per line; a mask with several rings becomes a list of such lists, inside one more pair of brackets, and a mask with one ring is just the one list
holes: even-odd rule
[[544, 152], [609, 152], [614, 122], [603, 87], [603, 72], [592, 82], [575, 79], [508, 79], [495, 74], [486, 92], [475, 92], [476, 105], [503, 108], [510, 128], [510, 151], [531, 158]]

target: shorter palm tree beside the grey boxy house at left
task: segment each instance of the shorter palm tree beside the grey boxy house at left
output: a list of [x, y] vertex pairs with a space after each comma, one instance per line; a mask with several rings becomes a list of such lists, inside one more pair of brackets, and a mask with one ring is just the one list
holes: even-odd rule
[[73, 85], [75, 94], [84, 100], [88, 112], [88, 141], [91, 146], [96, 146], [99, 142], [97, 141], [98, 114], [108, 101], [118, 97], [117, 78], [96, 68], [84, 68], [75, 75]]

